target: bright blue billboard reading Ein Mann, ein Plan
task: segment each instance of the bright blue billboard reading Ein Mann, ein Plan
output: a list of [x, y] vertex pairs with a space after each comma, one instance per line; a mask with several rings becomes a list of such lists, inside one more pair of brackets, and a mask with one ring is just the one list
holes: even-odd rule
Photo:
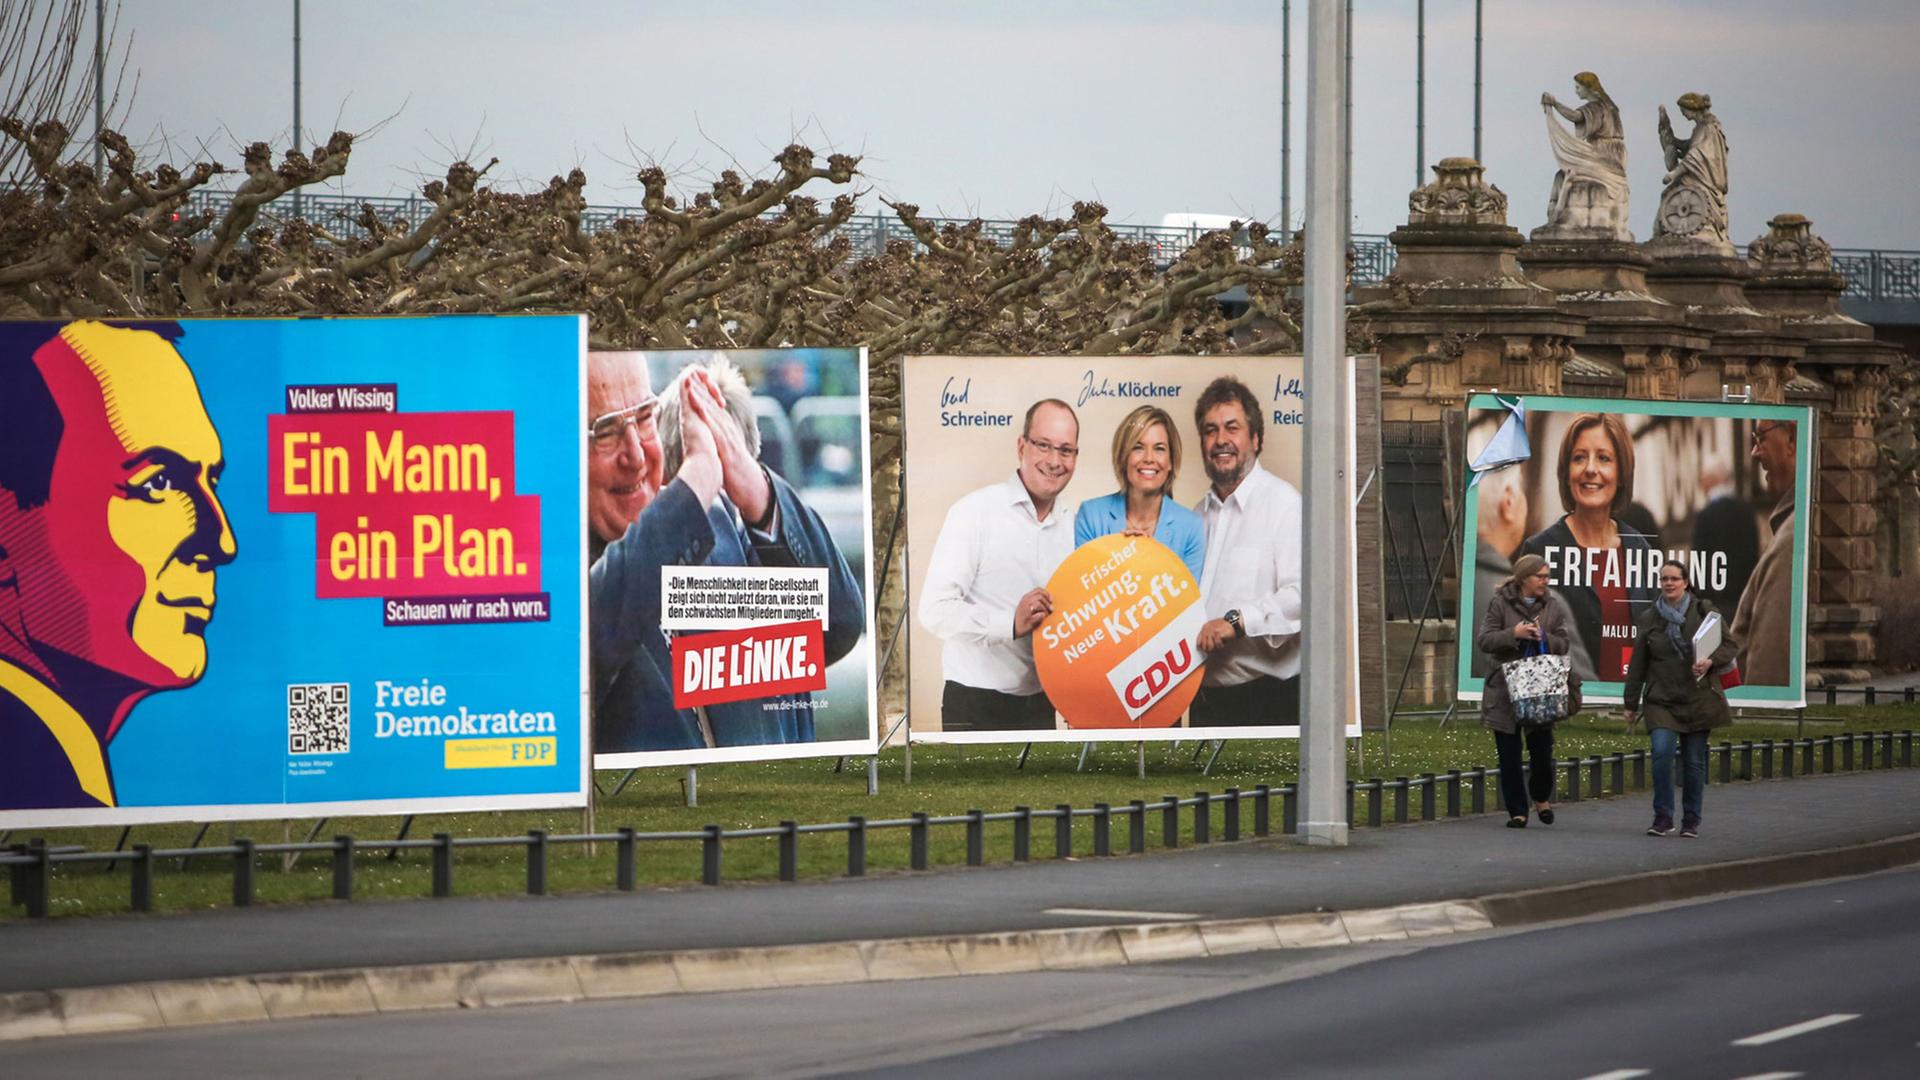
[[0, 323], [0, 828], [584, 805], [584, 357]]

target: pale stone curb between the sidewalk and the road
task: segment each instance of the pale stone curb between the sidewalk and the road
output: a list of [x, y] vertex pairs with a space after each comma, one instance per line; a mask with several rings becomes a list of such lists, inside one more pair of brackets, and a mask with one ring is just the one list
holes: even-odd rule
[[897, 978], [1129, 967], [1438, 938], [1920, 863], [1920, 834], [1480, 899], [1359, 911], [1068, 926], [741, 949], [528, 957], [0, 994], [0, 1042], [252, 1020], [549, 1005]]

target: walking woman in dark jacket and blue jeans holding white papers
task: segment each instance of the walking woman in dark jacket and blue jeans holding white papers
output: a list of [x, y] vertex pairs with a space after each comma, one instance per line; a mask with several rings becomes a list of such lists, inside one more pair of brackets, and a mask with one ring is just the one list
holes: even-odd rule
[[1734, 723], [1720, 673], [1734, 667], [1740, 646], [1720, 615], [1720, 646], [1693, 655], [1693, 634], [1709, 615], [1707, 598], [1692, 592], [1684, 563], [1661, 563], [1661, 598], [1640, 613], [1634, 659], [1626, 667], [1626, 724], [1645, 707], [1653, 742], [1653, 824], [1647, 836], [1674, 834], [1674, 748], [1680, 749], [1680, 836], [1699, 836], [1707, 798], [1707, 732]]

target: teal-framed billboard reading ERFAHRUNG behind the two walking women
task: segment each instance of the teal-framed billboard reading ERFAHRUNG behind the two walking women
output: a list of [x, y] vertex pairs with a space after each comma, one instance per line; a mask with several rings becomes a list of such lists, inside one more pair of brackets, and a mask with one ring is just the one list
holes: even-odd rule
[[1459, 688], [1476, 701], [1492, 661], [1473, 648], [1511, 559], [1548, 561], [1574, 619], [1588, 703], [1619, 703], [1659, 567], [1740, 646], [1734, 705], [1803, 705], [1812, 411], [1728, 402], [1475, 394], [1467, 404]]

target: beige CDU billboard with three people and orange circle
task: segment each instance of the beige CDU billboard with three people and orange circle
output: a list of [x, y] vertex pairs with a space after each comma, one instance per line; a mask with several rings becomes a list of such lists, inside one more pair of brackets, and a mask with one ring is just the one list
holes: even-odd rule
[[906, 357], [910, 738], [1296, 738], [1304, 375]]

